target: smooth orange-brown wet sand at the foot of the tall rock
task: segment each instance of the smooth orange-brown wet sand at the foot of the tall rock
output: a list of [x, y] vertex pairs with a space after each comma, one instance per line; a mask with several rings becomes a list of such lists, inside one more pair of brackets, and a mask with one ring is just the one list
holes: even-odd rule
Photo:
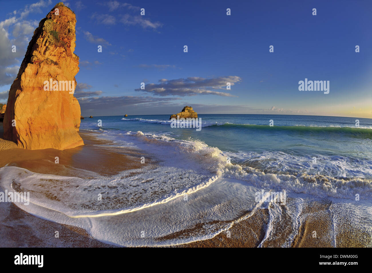
[[[142, 167], [138, 151], [111, 148], [110, 145], [113, 143], [94, 138], [92, 132], [82, 130], [79, 134], [84, 140], [84, 145], [64, 151], [20, 148], [1, 151], [0, 149], [0, 167], [9, 164], [9, 166], [25, 168], [32, 172], [77, 177], [85, 177], [86, 175], [85, 172], [79, 172], [79, 170], [112, 175], [120, 171]], [[56, 157], [58, 157], [58, 164], [56, 164]], [[65, 166], [73, 166], [74, 169]]]

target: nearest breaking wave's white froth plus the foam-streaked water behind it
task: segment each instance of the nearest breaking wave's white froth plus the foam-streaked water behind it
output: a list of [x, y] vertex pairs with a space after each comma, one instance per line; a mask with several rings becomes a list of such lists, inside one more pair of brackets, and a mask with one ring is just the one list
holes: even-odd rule
[[[109, 132], [106, 137], [112, 139], [112, 132]], [[209, 147], [202, 141], [178, 140], [167, 135], [144, 134], [140, 131], [128, 131], [116, 137], [115, 140], [131, 147], [153, 152], [160, 158], [173, 156], [174, 153], [179, 154], [179, 151], [182, 151], [191, 162], [197, 163], [197, 168], [208, 169], [218, 177], [249, 181], [260, 187], [275, 185], [285, 190], [319, 197], [355, 199], [355, 194], [359, 194], [361, 199], [372, 197], [371, 179], [365, 178], [366, 175], [369, 177], [372, 175], [370, 167], [372, 162], [367, 159], [355, 165], [350, 162], [349, 158], [319, 155], [318, 163], [322, 163], [313, 164], [312, 158], [289, 155], [285, 152], [264, 152], [262, 154], [222, 152], [218, 148]], [[152, 144], [151, 148], [149, 144]], [[243, 162], [239, 162], [241, 165], [226, 164], [227, 157], [236, 162]], [[175, 161], [171, 159], [171, 162]], [[263, 172], [263, 167], [268, 170]], [[286, 170], [294, 171], [286, 174]], [[296, 170], [297, 173], [295, 173]], [[346, 174], [351, 174], [351, 177], [348, 178]]]

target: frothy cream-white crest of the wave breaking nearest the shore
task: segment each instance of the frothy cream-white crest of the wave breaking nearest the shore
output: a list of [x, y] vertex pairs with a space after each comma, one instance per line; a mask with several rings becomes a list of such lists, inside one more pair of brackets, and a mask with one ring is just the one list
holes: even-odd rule
[[[129, 139], [132, 139], [133, 137], [136, 138], [136, 140], [140, 139], [140, 142], [135, 142], [137, 147], [144, 148], [143, 143], [152, 143], [155, 146], [160, 145], [161, 147], [169, 146], [172, 147], [170, 150], [172, 151], [174, 148], [177, 148], [179, 150], [187, 150], [189, 155], [192, 155], [192, 158], [199, 159], [200, 155], [208, 154], [209, 157], [206, 160], [206, 158], [203, 158], [203, 160], [199, 160], [199, 164], [201, 166], [205, 166], [207, 168], [210, 168], [211, 170], [215, 171], [218, 176], [224, 176], [224, 177], [231, 177], [231, 178], [237, 178], [240, 180], [245, 180], [249, 182], [254, 182], [254, 184], [259, 186], [270, 186], [275, 185], [279, 186], [286, 190], [292, 190], [295, 192], [303, 192], [303, 193], [309, 193], [313, 194], [315, 196], [320, 197], [335, 197], [335, 198], [355, 198], [355, 194], [359, 194], [360, 198], [370, 198], [372, 197], [372, 183], [371, 180], [363, 178], [363, 177], [357, 177], [358, 174], [361, 174], [365, 172], [366, 174], [371, 174], [371, 169], [369, 167], [361, 167], [360, 170], [353, 170], [352, 166], [348, 164], [346, 161], [343, 167], [340, 168], [340, 162], [338, 162], [336, 159], [329, 160], [330, 163], [326, 165], [326, 167], [323, 167], [323, 169], [332, 169], [335, 170], [336, 168], [340, 168], [341, 172], [347, 171], [354, 171], [356, 177], [353, 178], [342, 178], [343, 175], [340, 175], [341, 177], [333, 177], [330, 174], [329, 175], [322, 175], [322, 174], [310, 174], [307, 173], [299, 173], [296, 175], [293, 174], [281, 174], [281, 173], [270, 173], [270, 172], [262, 172], [260, 170], [257, 170], [256, 168], [252, 168], [249, 166], [239, 165], [239, 164], [226, 164], [226, 158], [227, 156], [232, 156], [232, 153], [222, 152], [218, 148], [209, 147], [208, 145], [204, 144], [201, 141], [184, 141], [184, 140], [176, 140], [174, 138], [165, 136], [165, 135], [155, 135], [155, 134], [144, 134], [142, 132], [127, 132], [126, 136], [129, 137]], [[133, 141], [132, 144], [134, 143]], [[164, 153], [168, 153], [169, 150], [164, 150], [161, 148], [161, 153], [164, 155]], [[238, 154], [236, 154], [238, 155]], [[272, 155], [270, 155], [272, 156]], [[289, 158], [288, 155], [285, 153], [282, 153], [280, 156], [285, 157], [282, 158], [280, 162], [294, 162], [296, 164], [303, 164], [304, 169], [311, 170], [311, 163], [309, 163], [310, 158], [302, 158], [302, 162], [299, 161], [299, 158], [296, 156], [291, 155]], [[288, 158], [287, 158], [288, 156]], [[213, 162], [210, 161], [210, 159], [213, 158]], [[288, 160], [287, 160], [288, 159]], [[322, 158], [318, 159], [322, 160]], [[325, 161], [325, 160], [324, 160]], [[333, 166], [333, 167], [332, 167]], [[287, 166], [287, 168], [289, 165]], [[283, 168], [285, 170], [285, 168]]]

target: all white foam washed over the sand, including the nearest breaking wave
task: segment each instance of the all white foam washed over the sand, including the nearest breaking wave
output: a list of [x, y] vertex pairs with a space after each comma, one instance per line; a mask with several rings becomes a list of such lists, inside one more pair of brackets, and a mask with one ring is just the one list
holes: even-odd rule
[[[85, 179], [6, 166], [0, 168], [1, 188], [30, 191], [31, 203], [27, 207], [20, 204], [22, 209], [41, 218], [84, 228], [96, 239], [119, 246], [162, 246], [212, 238], [232, 223], [249, 217], [247, 210], [267, 206], [254, 201], [254, 193], [262, 188], [285, 189], [295, 197], [309, 194], [314, 198], [337, 198], [346, 203], [355, 201], [355, 194], [361, 200], [372, 197], [371, 181], [365, 178], [262, 172], [250, 166], [228, 164], [227, 156], [234, 157], [232, 153], [195, 139], [178, 140], [140, 131], [115, 134], [111, 130], [101, 132], [99, 137], [114, 140], [117, 147], [143, 150], [144, 156], [158, 160], [159, 167], [138, 174], [124, 171], [112, 177], [97, 175]], [[140, 160], [142, 155], [138, 156]], [[235, 153], [235, 158], [239, 157], [244, 158]], [[97, 199], [99, 194], [102, 201]], [[296, 221], [301, 202], [296, 201], [292, 207], [287, 205], [288, 213]], [[273, 219], [279, 209], [270, 206], [272, 221], [264, 240], [272, 239], [277, 224]], [[202, 228], [195, 229], [200, 223]], [[285, 246], [290, 245], [298, 230], [295, 223], [293, 228]], [[166, 238], [187, 229], [193, 231]]]

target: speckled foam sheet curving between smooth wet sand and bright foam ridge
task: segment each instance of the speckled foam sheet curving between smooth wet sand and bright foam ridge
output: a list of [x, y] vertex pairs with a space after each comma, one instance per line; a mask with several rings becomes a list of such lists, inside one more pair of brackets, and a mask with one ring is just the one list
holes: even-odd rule
[[[94, 179], [37, 174], [7, 166], [0, 169], [1, 181], [6, 188], [27, 188], [39, 206], [70, 217], [93, 217], [128, 213], [198, 191], [221, 176], [226, 162], [219, 149], [201, 141], [177, 141], [142, 132], [121, 137], [130, 138], [136, 148], [145, 150], [145, 157], [150, 154], [160, 166], [137, 175], [129, 174], [133, 172], [129, 170], [112, 177], [96, 175]], [[102, 201], [98, 194], [102, 194]]]

